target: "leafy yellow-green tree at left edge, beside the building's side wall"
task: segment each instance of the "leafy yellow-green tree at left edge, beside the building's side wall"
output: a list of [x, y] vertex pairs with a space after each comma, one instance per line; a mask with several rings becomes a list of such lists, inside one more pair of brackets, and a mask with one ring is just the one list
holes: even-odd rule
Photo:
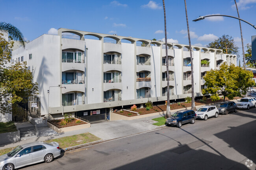
[[37, 94], [38, 88], [26, 62], [7, 65], [11, 61], [12, 47], [13, 42], [7, 42], [0, 35], [0, 113], [15, 115], [19, 113], [17, 104], [26, 103], [29, 96]]

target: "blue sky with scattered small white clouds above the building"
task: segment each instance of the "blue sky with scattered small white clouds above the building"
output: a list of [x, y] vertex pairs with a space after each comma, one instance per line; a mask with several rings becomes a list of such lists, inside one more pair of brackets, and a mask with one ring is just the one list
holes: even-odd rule
[[[30, 41], [43, 34], [57, 34], [61, 27], [143, 39], [165, 37], [162, 0], [0, 0], [0, 4], [0, 22], [13, 24]], [[240, 18], [256, 25], [256, 0], [237, 0], [237, 5]], [[165, 10], [167, 41], [189, 44], [184, 1], [165, 0]], [[237, 19], [216, 16], [192, 21], [210, 14], [237, 17], [234, 0], [187, 0], [187, 13], [192, 45], [204, 47], [224, 34], [230, 35], [239, 47], [242, 64]], [[244, 22], [241, 26], [246, 46], [256, 29]]]

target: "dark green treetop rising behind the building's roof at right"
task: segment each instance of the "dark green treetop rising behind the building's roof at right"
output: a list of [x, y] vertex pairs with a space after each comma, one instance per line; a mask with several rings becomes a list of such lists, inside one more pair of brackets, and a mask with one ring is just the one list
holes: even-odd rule
[[[239, 50], [234, 42], [234, 38], [229, 35], [223, 35], [218, 39], [215, 39], [213, 42], [209, 43], [206, 47], [208, 48], [216, 48], [223, 49], [223, 53], [234, 54], [239, 57]], [[227, 51], [226, 51], [227, 50]]]

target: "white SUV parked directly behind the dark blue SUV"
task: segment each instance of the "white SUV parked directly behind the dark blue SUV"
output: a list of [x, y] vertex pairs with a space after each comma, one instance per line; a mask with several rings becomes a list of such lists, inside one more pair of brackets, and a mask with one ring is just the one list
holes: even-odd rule
[[218, 117], [219, 110], [216, 106], [202, 106], [196, 112], [198, 119], [204, 119], [205, 121], [208, 117]]

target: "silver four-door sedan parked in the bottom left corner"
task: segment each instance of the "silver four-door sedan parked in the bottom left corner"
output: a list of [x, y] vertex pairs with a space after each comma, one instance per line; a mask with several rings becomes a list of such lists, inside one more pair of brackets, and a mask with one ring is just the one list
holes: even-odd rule
[[32, 142], [22, 144], [11, 152], [0, 156], [0, 170], [14, 170], [27, 165], [43, 162], [50, 163], [60, 155], [57, 142]]

